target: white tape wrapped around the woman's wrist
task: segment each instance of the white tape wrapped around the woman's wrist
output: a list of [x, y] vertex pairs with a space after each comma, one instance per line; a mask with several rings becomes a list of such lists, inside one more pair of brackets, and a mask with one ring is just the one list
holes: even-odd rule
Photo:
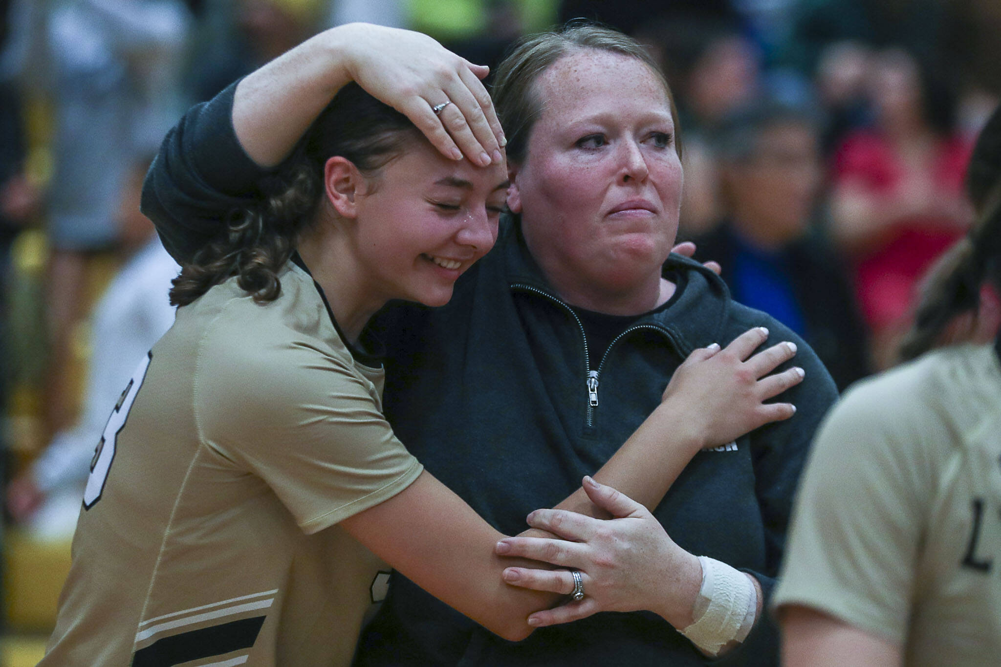
[[758, 593], [751, 579], [726, 563], [699, 556], [702, 587], [695, 603], [695, 623], [682, 634], [716, 656], [732, 641], [744, 641], [754, 625]]

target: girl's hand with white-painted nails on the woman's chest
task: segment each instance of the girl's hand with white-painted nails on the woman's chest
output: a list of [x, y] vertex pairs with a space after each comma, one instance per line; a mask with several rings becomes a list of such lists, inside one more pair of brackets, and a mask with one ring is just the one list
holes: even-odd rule
[[701, 348], [689, 355], [664, 390], [664, 403], [689, 415], [679, 428], [690, 429], [686, 442], [719, 447], [759, 426], [788, 419], [796, 412], [792, 403], [766, 400], [803, 381], [803, 369], [772, 373], [796, 354], [796, 345], [785, 342], [752, 353], [768, 340], [768, 330], [744, 332], [726, 348]]

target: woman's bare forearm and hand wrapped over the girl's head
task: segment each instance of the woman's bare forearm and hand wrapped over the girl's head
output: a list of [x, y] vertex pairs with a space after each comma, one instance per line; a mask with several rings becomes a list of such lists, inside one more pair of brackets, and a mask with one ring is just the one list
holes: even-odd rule
[[[500, 161], [504, 133], [473, 65], [427, 35], [364, 23], [330, 28], [248, 75], [236, 88], [233, 127], [258, 165], [281, 162], [340, 88], [356, 81], [405, 114], [452, 159]], [[440, 114], [432, 107], [451, 102]], [[460, 151], [459, 151], [460, 149]]]

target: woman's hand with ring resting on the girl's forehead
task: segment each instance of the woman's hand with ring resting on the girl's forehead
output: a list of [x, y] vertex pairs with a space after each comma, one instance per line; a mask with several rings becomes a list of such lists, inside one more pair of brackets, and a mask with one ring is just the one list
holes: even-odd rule
[[[342, 26], [347, 67], [373, 97], [406, 115], [443, 155], [473, 164], [499, 163], [506, 141], [480, 83], [489, 68], [473, 65], [419, 32], [366, 23]], [[435, 115], [433, 107], [451, 102]], [[461, 150], [461, 153], [459, 152]]]

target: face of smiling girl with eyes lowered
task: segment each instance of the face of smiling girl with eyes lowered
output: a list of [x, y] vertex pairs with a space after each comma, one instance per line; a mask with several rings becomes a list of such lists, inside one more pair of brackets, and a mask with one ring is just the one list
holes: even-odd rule
[[493, 246], [508, 187], [504, 164], [476, 167], [407, 142], [355, 194], [352, 253], [367, 292], [440, 306]]

